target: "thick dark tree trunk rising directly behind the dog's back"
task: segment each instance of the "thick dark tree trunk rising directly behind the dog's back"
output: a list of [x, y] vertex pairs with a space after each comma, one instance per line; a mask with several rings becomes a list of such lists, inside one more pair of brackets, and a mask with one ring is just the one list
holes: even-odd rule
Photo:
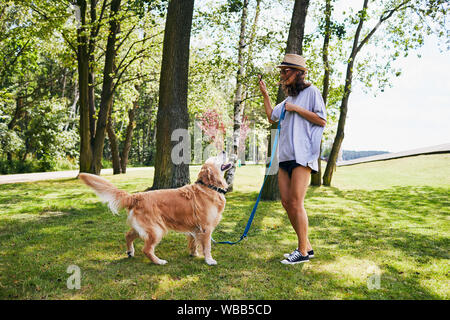
[[155, 177], [151, 189], [177, 188], [190, 183], [189, 163], [175, 164], [171, 159], [172, 149], [180, 143], [171, 141], [171, 136], [175, 129], [188, 130], [187, 84], [193, 9], [194, 0], [169, 2], [159, 84]]

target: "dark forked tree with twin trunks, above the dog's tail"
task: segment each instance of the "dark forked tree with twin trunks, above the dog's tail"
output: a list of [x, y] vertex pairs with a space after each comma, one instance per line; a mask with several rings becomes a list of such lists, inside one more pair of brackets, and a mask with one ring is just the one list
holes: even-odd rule
[[[86, 0], [77, 0], [79, 9], [79, 23], [77, 28], [77, 54], [78, 62], [78, 85], [80, 104], [80, 172], [100, 174], [102, 169], [103, 144], [105, 142], [106, 125], [114, 92], [114, 66], [116, 59], [116, 38], [119, 32], [118, 12], [120, 0], [112, 0], [110, 3], [109, 30], [105, 51], [105, 62], [103, 68], [103, 83], [100, 98], [100, 108], [95, 121], [94, 101], [94, 76], [93, 62], [96, 37], [102, 24], [102, 17], [107, 2], [103, 1], [101, 15], [97, 20], [97, 1], [91, 0], [90, 15], [91, 23], [86, 20], [88, 9]], [[88, 34], [90, 36], [88, 36]], [[94, 130], [95, 125], [95, 130]]]

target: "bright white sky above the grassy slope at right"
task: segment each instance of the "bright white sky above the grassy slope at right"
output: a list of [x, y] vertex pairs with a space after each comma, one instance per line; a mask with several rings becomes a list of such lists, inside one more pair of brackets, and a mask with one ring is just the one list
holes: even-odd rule
[[345, 150], [399, 152], [450, 143], [450, 52], [436, 39], [399, 62], [402, 75], [376, 97], [354, 91], [347, 114]]

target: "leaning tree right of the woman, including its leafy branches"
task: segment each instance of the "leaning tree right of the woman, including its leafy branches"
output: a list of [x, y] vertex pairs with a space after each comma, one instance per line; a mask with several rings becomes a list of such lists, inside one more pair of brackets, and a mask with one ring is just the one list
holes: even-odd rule
[[[383, 39], [386, 39], [386, 42], [390, 41], [397, 47], [396, 49], [394, 49], [393, 55], [388, 57], [388, 60], [395, 60], [395, 58], [399, 55], [399, 52], [403, 52], [405, 55], [407, 55], [407, 51], [409, 49], [423, 44], [421, 30], [423, 30], [424, 32], [432, 31], [432, 28], [426, 21], [427, 17], [431, 18], [430, 20], [437, 21], [437, 24], [440, 26], [442, 26], [442, 22], [440, 21], [445, 20], [443, 19], [443, 17], [445, 17], [446, 10], [444, 7], [444, 1], [442, 0], [387, 1], [386, 3], [382, 3], [385, 5], [385, 7], [384, 9], [382, 9], [381, 14], [378, 15], [375, 26], [365, 31], [364, 33], [363, 27], [365, 26], [365, 22], [373, 17], [373, 14], [371, 16], [371, 14], [369, 13], [368, 3], [368, 0], [364, 0], [362, 9], [357, 13], [357, 16], [355, 18], [352, 18], [352, 23], [357, 24], [357, 27], [353, 37], [351, 53], [347, 59], [344, 93], [340, 105], [340, 115], [336, 136], [323, 176], [323, 184], [326, 186], [331, 185], [333, 172], [336, 167], [336, 161], [341, 149], [342, 141], [344, 140], [344, 129], [347, 118], [349, 97], [352, 91], [353, 74], [356, 70], [361, 70], [361, 68], [358, 68], [355, 65], [358, 54], [365, 46], [367, 46], [369, 41], [374, 38], [374, 35], [377, 30], [380, 29], [380, 26], [388, 23], [390, 20], [394, 21], [390, 26], [387, 26], [387, 32], [383, 35]], [[410, 16], [408, 16], [408, 14], [410, 14]], [[425, 27], [425, 29], [422, 29], [424, 28], [423, 25], [426, 25], [427, 27]], [[405, 32], [406, 30], [408, 30], [409, 32]], [[442, 34], [443, 33], [440, 32], [440, 35]], [[362, 40], [360, 40], [360, 37], [362, 37]], [[383, 44], [382, 40], [379, 40], [379, 42], [381, 42], [381, 45]], [[386, 42], [384, 42], [385, 46], [387, 46], [387, 48], [390, 48], [390, 44], [386, 44]], [[378, 45], [380, 45], [380, 43], [378, 43]], [[374, 61], [371, 61], [370, 63], [372, 66], [376, 66]], [[385, 69], [389, 69], [389, 66], [390, 63], [388, 61]], [[381, 73], [381, 71], [379, 73]], [[397, 75], [399, 75], [399, 73]], [[384, 83], [386, 83], [387, 81], [387, 79], [383, 79]]]

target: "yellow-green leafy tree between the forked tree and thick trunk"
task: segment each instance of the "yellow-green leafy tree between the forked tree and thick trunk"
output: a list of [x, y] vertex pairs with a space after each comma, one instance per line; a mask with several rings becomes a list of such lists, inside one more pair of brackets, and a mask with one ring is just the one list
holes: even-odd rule
[[[142, 8], [139, 3], [144, 7]], [[151, 4], [151, 6], [145, 6], [146, 4]], [[140, 155], [149, 154], [151, 156], [151, 146], [154, 140], [150, 129], [155, 127], [152, 126], [155, 121], [152, 113], [147, 112], [146, 103], [148, 94], [157, 95], [156, 82], [161, 65], [163, 18], [165, 18], [166, 10], [162, 2], [153, 0], [128, 2], [128, 6], [130, 5], [136, 16], [128, 17], [122, 22], [121, 28], [129, 31], [127, 37], [122, 40], [125, 43], [118, 46], [124, 50], [117, 53], [117, 60], [120, 61], [118, 62], [119, 67], [133, 61], [136, 63], [132, 63], [126, 72], [121, 73], [122, 79], [125, 78], [125, 80], [116, 86], [114, 104], [110, 110], [107, 124], [109, 145], [106, 145], [105, 151], [107, 156], [111, 156], [114, 174], [126, 173], [130, 152], [133, 154], [132, 141], [141, 139], [141, 137], [143, 138], [142, 143], [137, 140], [134, 148], [138, 156], [138, 161], [135, 162], [149, 165], [148, 161], [141, 162]], [[159, 11], [159, 15], [152, 11], [155, 13]], [[127, 57], [129, 57], [128, 61]], [[140, 110], [144, 112], [140, 112]], [[138, 126], [141, 121], [144, 124], [143, 129], [147, 133], [144, 136], [140, 135], [141, 127]], [[134, 132], [136, 127], [138, 127], [137, 134]], [[110, 154], [108, 147], [111, 151]]]

